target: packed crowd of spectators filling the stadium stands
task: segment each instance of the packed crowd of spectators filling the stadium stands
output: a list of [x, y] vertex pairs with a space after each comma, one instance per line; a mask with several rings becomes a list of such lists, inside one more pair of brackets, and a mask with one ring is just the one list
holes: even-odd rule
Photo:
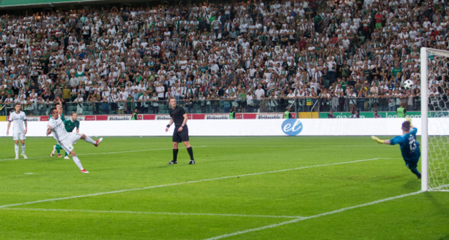
[[[0, 21], [0, 104], [30, 114], [59, 100], [79, 113], [158, 113], [169, 96], [189, 112], [295, 101], [297, 111], [419, 110], [419, 50], [449, 50], [444, 0], [85, 8]], [[431, 103], [447, 104], [447, 73], [430, 75]]]

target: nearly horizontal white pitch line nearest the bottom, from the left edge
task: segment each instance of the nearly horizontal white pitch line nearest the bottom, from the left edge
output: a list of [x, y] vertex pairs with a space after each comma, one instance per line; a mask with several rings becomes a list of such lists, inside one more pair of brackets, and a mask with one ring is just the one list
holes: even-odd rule
[[276, 216], [276, 215], [247, 215], [247, 214], [214, 214], [214, 213], [195, 213], [195, 212], [133, 212], [133, 211], [108, 211], [108, 210], [77, 210], [77, 209], [45, 209], [45, 208], [9, 208], [6, 210], [30, 210], [43, 212], [99, 212], [99, 213], [119, 213], [119, 214], [158, 214], [158, 215], [195, 215], [195, 216], [242, 216], [242, 217], [260, 217], [260, 218], [276, 218], [276, 219], [300, 219], [303, 216]]

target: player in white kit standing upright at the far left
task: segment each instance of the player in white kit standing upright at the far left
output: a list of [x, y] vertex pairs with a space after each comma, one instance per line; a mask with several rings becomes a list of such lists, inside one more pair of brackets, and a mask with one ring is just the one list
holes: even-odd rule
[[[11, 122], [14, 122], [12, 126], [12, 140], [14, 140], [14, 150], [16, 152], [16, 158], [19, 159], [19, 140], [21, 142], [22, 147], [22, 156], [23, 158], [27, 158], [25, 155], [25, 134], [26, 134], [26, 116], [23, 111], [20, 111], [21, 104], [14, 105], [15, 111], [10, 113], [10, 117], [8, 118], [8, 129], [6, 129], [6, 136], [10, 134], [10, 126]], [[23, 127], [25, 125], [25, 127]]]

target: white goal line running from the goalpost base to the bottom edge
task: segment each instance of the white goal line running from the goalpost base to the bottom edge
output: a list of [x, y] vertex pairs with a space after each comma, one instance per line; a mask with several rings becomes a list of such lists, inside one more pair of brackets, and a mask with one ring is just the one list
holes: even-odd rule
[[327, 215], [330, 215], [330, 214], [336, 214], [338, 212], [344, 212], [346, 210], [352, 210], [352, 209], [359, 208], [359, 207], [366, 207], [366, 206], [369, 206], [369, 205], [374, 205], [374, 204], [377, 204], [377, 203], [383, 203], [383, 202], [391, 201], [391, 200], [394, 200], [394, 199], [401, 199], [401, 198], [406, 197], [406, 196], [413, 196], [413, 195], [416, 195], [416, 194], [420, 194], [421, 192], [422, 191], [412, 192], [410, 194], [403, 194], [403, 195], [399, 195], [399, 196], [392, 196], [392, 197], [387, 198], [387, 199], [381, 199], [381, 200], [377, 200], [377, 201], [372, 201], [370, 203], [363, 203], [363, 204], [360, 204], [360, 205], [354, 205], [352, 207], [344, 207], [344, 208], [341, 208], [341, 209], [338, 209], [338, 210], [334, 210], [334, 211], [331, 211], [331, 212], [323, 212], [321, 214], [316, 214], [316, 215], [313, 215], [313, 216], [305, 216], [305, 217], [300, 218], [300, 219], [294, 219], [294, 220], [290, 220], [290, 221], [284, 221], [282, 223], [265, 225], [265, 226], [260, 227], [260, 228], [251, 228], [251, 229], [248, 229], [248, 230], [232, 232], [232, 233], [229, 233], [229, 234], [222, 234], [220, 236], [211, 237], [209, 239], [204, 239], [204, 240], [224, 239], [226, 237], [233, 237], [233, 236], [240, 235], [240, 234], [245, 234], [245, 233], [248, 233], [248, 232], [256, 232], [256, 231], [264, 230], [264, 229], [267, 229], [267, 228], [276, 228], [276, 227], [281, 226], [281, 225], [287, 225], [287, 224], [290, 224], [290, 223], [297, 223], [298, 221], [304, 221], [304, 220], [307, 220], [307, 219], [315, 219], [315, 218], [320, 217], [320, 216], [327, 216]]

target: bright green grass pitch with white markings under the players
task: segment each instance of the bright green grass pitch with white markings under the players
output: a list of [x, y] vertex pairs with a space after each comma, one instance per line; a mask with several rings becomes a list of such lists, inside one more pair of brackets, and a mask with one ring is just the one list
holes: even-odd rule
[[449, 192], [420, 193], [369, 137], [192, 137], [75, 145], [84, 167], [0, 138], [0, 239], [448, 239]]

